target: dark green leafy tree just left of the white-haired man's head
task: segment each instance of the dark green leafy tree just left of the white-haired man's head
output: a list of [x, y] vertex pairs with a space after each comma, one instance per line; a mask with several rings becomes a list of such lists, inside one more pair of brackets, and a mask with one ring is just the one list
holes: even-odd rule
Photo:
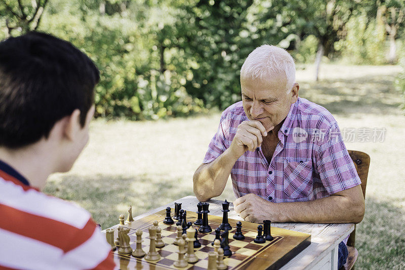
[[240, 67], [261, 45], [260, 35], [248, 28], [252, 4], [253, 0], [199, 0], [179, 8], [171, 47], [190, 63], [187, 92], [209, 107], [224, 108], [240, 100]]

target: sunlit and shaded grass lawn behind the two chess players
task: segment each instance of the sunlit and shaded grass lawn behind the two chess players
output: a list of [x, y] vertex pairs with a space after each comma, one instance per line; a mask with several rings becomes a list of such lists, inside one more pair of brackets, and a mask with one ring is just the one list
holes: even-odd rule
[[[300, 96], [329, 109], [341, 130], [385, 128], [382, 142], [346, 141], [371, 156], [366, 214], [357, 225], [357, 268], [405, 268], [405, 117], [392, 83], [398, 66], [322, 65], [297, 72]], [[50, 177], [48, 194], [88, 209], [102, 228], [118, 223], [132, 205], [134, 216], [193, 195], [192, 175], [217, 130], [219, 112], [155, 122], [91, 125], [89, 145], [66, 174]], [[234, 200], [230, 181], [219, 199]]]

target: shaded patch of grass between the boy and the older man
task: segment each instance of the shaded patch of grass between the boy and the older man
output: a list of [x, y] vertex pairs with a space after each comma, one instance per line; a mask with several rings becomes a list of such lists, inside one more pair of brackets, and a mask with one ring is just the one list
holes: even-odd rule
[[44, 191], [76, 202], [90, 211], [93, 219], [104, 229], [117, 224], [120, 214], [125, 214], [127, 218], [130, 205], [135, 217], [176, 199], [193, 195], [192, 189], [181, 183], [181, 179], [168, 180], [164, 175], [131, 178], [121, 175], [68, 175], [58, 181], [49, 181]]

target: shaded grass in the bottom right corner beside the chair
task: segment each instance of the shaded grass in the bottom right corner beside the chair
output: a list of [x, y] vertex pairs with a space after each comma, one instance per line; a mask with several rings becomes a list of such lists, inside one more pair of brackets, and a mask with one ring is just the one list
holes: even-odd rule
[[405, 269], [405, 211], [393, 203], [366, 197], [356, 227], [357, 269]]

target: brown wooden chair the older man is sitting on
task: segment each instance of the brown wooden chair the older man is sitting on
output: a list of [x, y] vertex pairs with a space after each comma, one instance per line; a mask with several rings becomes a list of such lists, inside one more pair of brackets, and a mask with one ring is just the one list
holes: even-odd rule
[[[367, 176], [369, 174], [370, 167], [370, 156], [365, 152], [348, 150], [350, 158], [353, 160], [354, 166], [356, 167], [357, 174], [361, 180], [361, 189], [363, 191], [363, 196], [366, 198], [366, 185]], [[356, 237], [356, 225], [354, 225], [354, 230], [350, 234], [347, 240], [347, 250], [349, 254], [347, 255], [346, 263], [339, 270], [350, 270], [354, 266], [354, 262], [357, 259], [358, 251], [354, 247], [354, 240]]]

